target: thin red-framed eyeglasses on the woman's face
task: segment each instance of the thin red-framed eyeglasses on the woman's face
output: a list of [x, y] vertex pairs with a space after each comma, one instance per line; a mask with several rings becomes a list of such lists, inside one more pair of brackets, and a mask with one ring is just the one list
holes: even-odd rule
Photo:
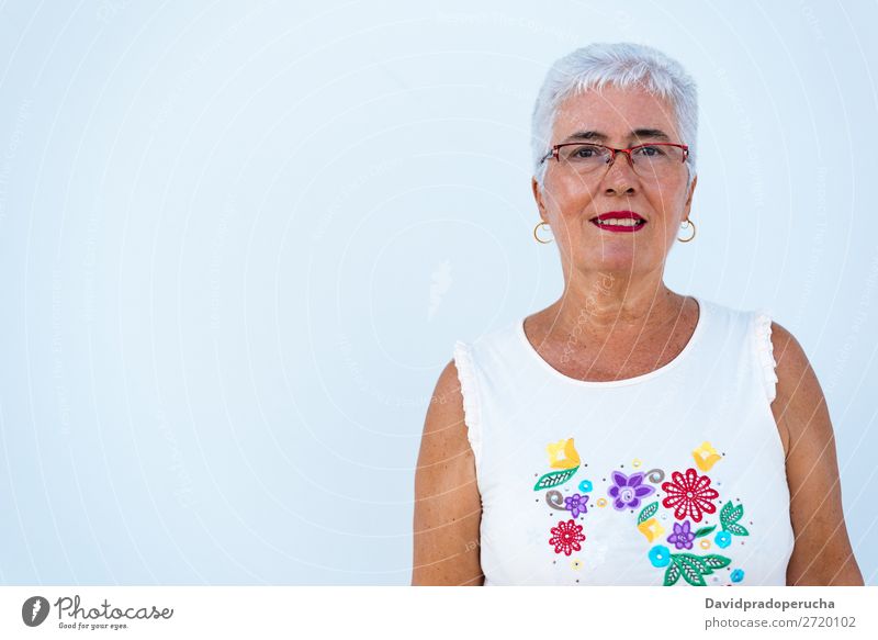
[[554, 158], [578, 173], [592, 173], [601, 167], [608, 168], [612, 165], [616, 154], [619, 153], [628, 156], [628, 164], [638, 176], [661, 180], [673, 176], [679, 165], [686, 161], [689, 147], [675, 143], [650, 143], [627, 149], [614, 149], [604, 145], [564, 143], [554, 145], [540, 164]]

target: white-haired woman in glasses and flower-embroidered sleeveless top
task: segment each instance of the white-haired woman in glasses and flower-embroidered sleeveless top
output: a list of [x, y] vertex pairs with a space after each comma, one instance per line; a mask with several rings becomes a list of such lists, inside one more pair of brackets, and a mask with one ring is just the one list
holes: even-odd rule
[[801, 346], [663, 281], [696, 233], [696, 128], [695, 83], [650, 47], [549, 71], [533, 233], [563, 293], [457, 343], [420, 446], [413, 584], [863, 584]]

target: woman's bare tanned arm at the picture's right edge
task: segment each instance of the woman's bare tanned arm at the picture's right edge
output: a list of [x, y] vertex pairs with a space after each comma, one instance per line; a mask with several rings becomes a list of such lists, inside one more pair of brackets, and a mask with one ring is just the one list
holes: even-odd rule
[[863, 585], [842, 512], [835, 436], [823, 391], [801, 345], [772, 323], [777, 396], [772, 413], [787, 453], [796, 546], [787, 585]]

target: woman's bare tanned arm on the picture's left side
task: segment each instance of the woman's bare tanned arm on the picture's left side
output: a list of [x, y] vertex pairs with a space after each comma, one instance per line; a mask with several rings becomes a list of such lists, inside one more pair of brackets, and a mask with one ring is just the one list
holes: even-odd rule
[[482, 498], [453, 360], [436, 384], [415, 474], [413, 585], [482, 585]]

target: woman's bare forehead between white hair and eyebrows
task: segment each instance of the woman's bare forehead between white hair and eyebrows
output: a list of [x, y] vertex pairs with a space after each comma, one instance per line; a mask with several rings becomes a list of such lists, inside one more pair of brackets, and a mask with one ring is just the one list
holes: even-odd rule
[[559, 106], [552, 139], [559, 142], [579, 131], [596, 131], [621, 142], [640, 128], [661, 130], [674, 141], [680, 137], [671, 101], [645, 89], [607, 86], [566, 98]]

